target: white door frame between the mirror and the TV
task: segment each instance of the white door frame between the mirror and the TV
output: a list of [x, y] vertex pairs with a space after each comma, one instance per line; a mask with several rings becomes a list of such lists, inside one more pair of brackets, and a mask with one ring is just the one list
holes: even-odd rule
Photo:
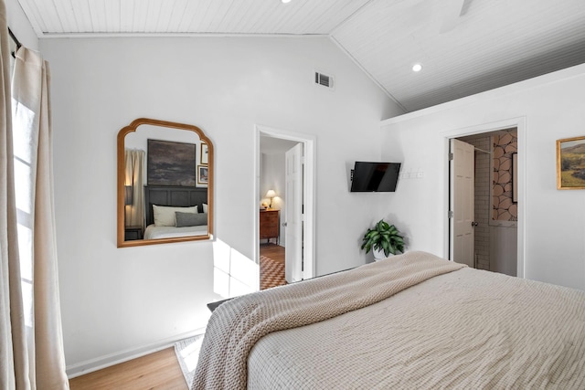
[[303, 174], [303, 279], [313, 278], [316, 269], [315, 257], [315, 137], [302, 132], [291, 132], [276, 129], [261, 124], [254, 125], [254, 206], [251, 207], [254, 213], [254, 258], [260, 264], [260, 226], [258, 222], [258, 201], [260, 195], [260, 138], [269, 136], [282, 140], [303, 143], [304, 151], [304, 174]]

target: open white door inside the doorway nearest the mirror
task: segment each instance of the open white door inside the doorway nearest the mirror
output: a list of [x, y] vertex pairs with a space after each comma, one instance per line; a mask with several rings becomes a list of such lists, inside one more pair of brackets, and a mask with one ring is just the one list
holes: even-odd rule
[[286, 251], [284, 277], [287, 282], [303, 279], [303, 143], [299, 142], [285, 154]]

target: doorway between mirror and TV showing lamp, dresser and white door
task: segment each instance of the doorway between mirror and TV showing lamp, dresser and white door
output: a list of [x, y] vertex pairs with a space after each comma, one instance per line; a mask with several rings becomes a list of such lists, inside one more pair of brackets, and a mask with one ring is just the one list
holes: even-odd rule
[[[314, 139], [257, 126], [257, 141], [255, 236], [262, 289], [271, 287], [271, 280], [292, 283], [314, 276]], [[284, 266], [277, 271], [284, 278], [275, 275], [280, 267], [269, 259]]]

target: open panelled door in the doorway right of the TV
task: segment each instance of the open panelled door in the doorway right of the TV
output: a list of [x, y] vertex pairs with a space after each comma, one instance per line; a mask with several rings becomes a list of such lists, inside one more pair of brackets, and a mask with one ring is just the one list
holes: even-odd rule
[[473, 145], [452, 139], [451, 153], [450, 257], [453, 261], [473, 267], [475, 181]]

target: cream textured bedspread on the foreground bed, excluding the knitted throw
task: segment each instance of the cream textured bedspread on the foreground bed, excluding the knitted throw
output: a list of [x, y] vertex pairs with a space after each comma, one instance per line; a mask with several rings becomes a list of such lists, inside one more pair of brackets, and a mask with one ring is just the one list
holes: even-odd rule
[[249, 355], [248, 388], [583, 389], [584, 299], [461, 269], [264, 336]]

